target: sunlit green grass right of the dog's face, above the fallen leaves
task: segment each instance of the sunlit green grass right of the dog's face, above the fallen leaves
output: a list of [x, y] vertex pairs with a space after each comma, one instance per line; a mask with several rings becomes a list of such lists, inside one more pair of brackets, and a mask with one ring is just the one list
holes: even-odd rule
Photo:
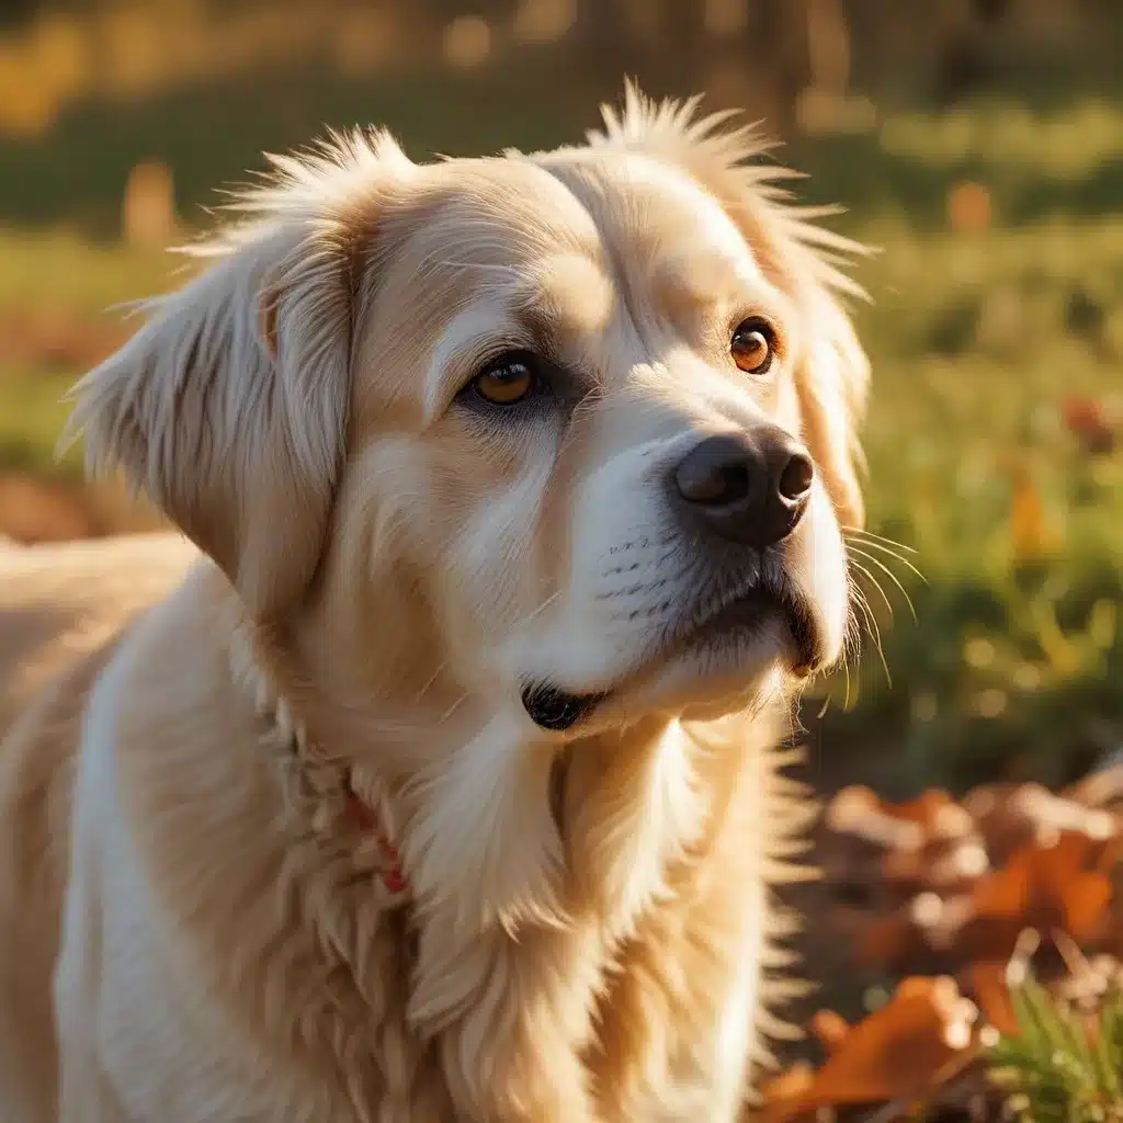
[[[1071, 394], [1123, 405], [1123, 222], [880, 232], [859, 313], [871, 527], [928, 583], [871, 550], [914, 622], [862, 559], [895, 608], [888, 626], [867, 588], [886, 666], [866, 659], [828, 727], [876, 746], [903, 787], [1003, 768], [1063, 782], [1123, 739], [1123, 458], [1084, 451], [1062, 418]], [[1040, 532], [1020, 537], [1017, 491]]]

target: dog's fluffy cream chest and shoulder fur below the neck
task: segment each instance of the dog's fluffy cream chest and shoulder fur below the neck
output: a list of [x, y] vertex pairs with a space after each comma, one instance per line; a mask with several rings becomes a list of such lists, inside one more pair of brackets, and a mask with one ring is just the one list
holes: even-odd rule
[[[386, 889], [340, 766], [292, 752], [193, 592], [111, 665], [81, 750], [61, 1023], [97, 1021], [124, 1110], [213, 1117], [207, 1087], [247, 1119], [737, 1116], [788, 833], [768, 715], [574, 746], [549, 915], [468, 924]], [[208, 652], [190, 675], [181, 646]]]

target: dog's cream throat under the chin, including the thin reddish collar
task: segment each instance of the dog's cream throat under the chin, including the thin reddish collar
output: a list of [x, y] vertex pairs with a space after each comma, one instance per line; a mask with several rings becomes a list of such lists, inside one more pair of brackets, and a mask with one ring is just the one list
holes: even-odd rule
[[[624, 938], [666, 892], [669, 871], [704, 848], [723, 814], [724, 777], [754, 751], [743, 718], [723, 732], [721, 722], [692, 729], [661, 716], [570, 741], [563, 756], [556, 741], [527, 743], [521, 715], [493, 712], [439, 750], [421, 743], [427, 731], [418, 729], [418, 767], [403, 775], [401, 746], [386, 755], [396, 765], [383, 769], [378, 747], [355, 752], [321, 733], [329, 723], [310, 704], [314, 692], [286, 690], [300, 677], [268, 637], [243, 629], [231, 661], [271, 728], [270, 743], [296, 774], [300, 813], [354, 848], [384, 885], [400, 862], [398, 900], [419, 932], [422, 960], [427, 932], [439, 933], [441, 956], [483, 932], [515, 937], [528, 925], [587, 922], [610, 942]], [[369, 809], [373, 827], [349, 810], [350, 795]], [[457, 1014], [455, 998], [414, 999], [430, 1024]]]

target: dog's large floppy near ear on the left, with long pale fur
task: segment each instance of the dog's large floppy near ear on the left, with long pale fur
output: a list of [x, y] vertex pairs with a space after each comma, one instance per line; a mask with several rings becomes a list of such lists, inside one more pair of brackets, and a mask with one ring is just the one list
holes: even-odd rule
[[121, 468], [226, 572], [257, 617], [304, 591], [344, 463], [356, 292], [385, 137], [276, 161], [252, 222], [74, 389], [72, 435]]

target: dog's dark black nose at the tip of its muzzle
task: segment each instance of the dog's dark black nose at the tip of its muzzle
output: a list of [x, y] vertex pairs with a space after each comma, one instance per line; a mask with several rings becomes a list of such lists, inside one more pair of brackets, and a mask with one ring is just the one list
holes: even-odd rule
[[814, 476], [803, 446], [778, 426], [766, 426], [706, 437], [675, 469], [674, 487], [707, 530], [760, 549], [795, 529]]

